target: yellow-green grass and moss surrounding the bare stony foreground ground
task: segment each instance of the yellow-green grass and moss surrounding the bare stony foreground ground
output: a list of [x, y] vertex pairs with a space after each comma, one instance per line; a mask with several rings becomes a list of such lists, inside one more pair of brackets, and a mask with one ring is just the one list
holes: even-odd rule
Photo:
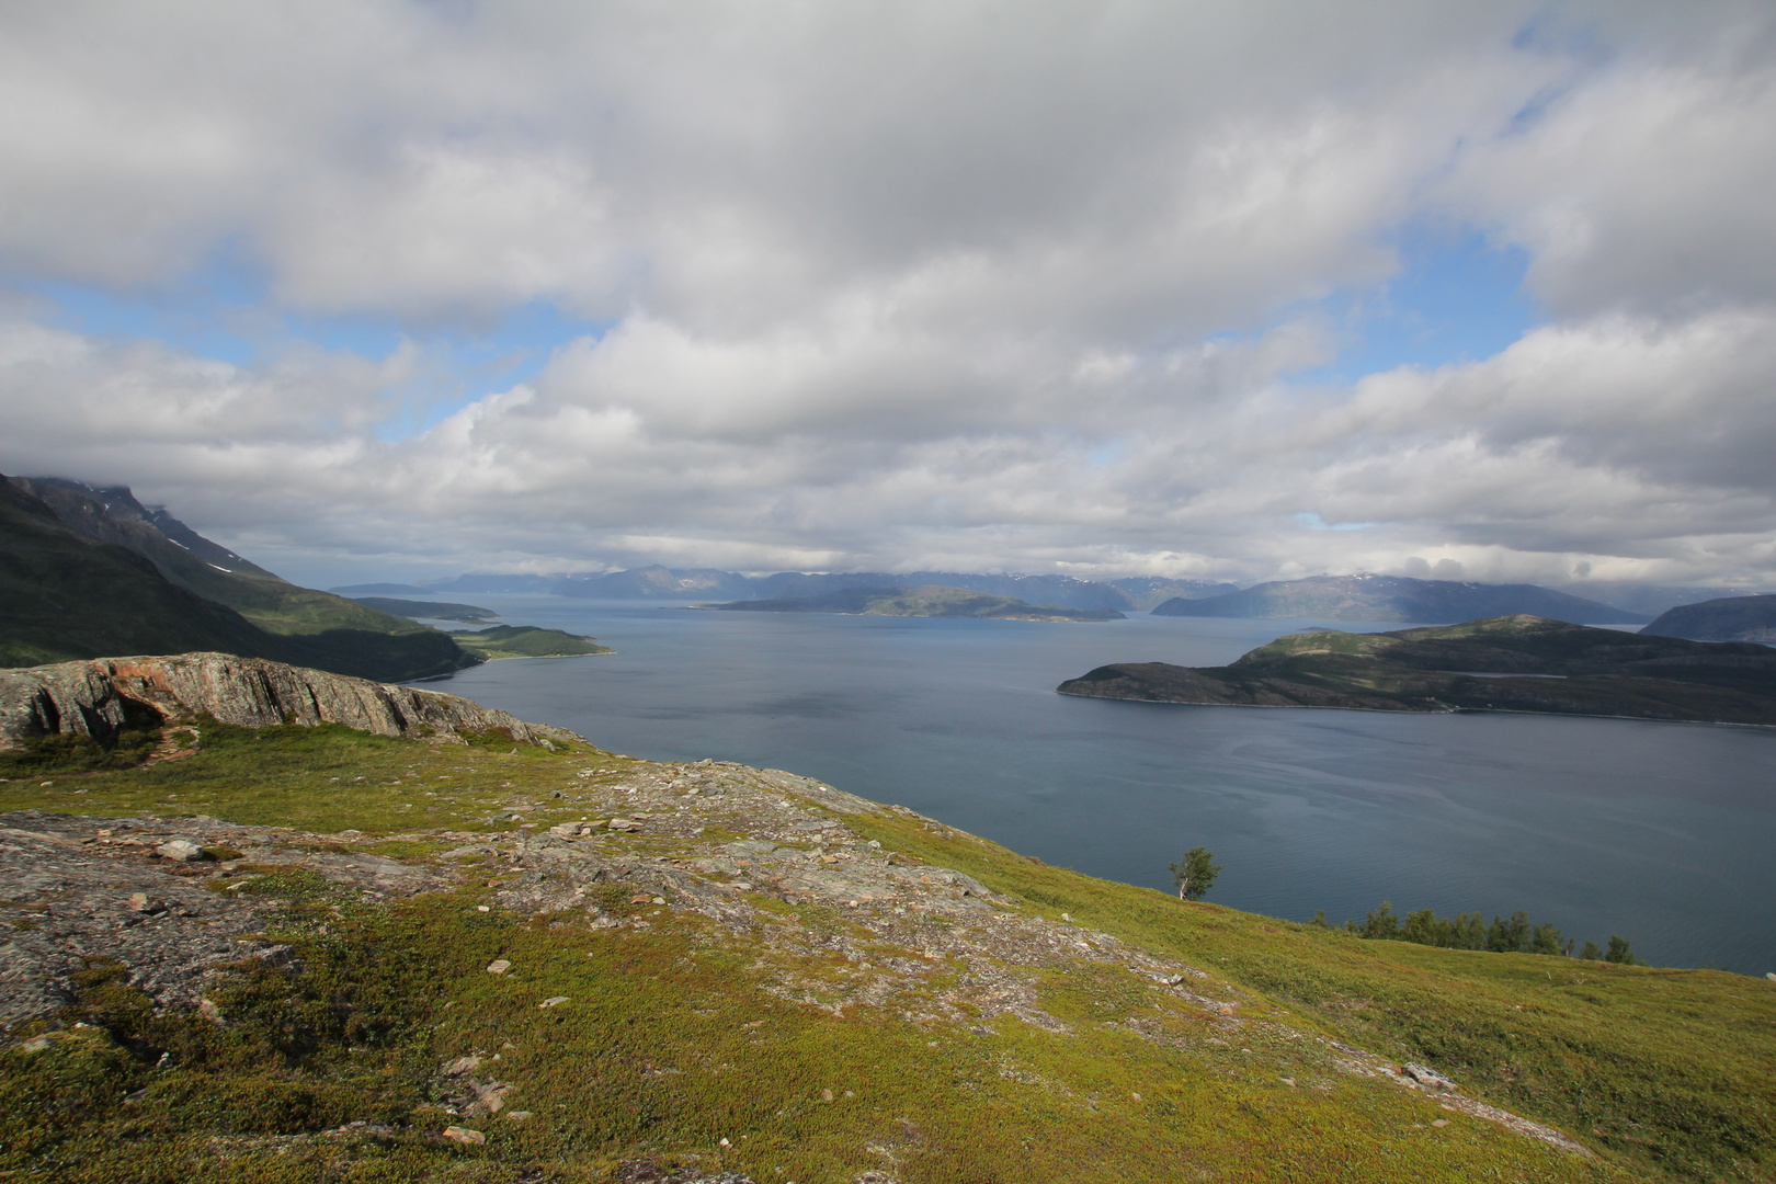
[[[449, 841], [377, 836], [496, 829], [481, 822], [490, 804], [520, 797], [543, 804], [542, 822], [581, 817], [586, 806], [551, 793], [577, 795], [632, 767], [599, 753], [428, 747], [343, 728], [210, 735], [199, 756], [146, 770], [55, 774], [48, 786], [37, 770], [0, 785], [0, 808], [355, 827], [361, 849], [424, 857]], [[599, 776], [572, 776], [586, 767]], [[1073, 1035], [1002, 1019], [975, 1037], [861, 1005], [838, 1017], [760, 994], [764, 971], [790, 957], [773, 946], [769, 921], [735, 937], [698, 914], [613, 898], [602, 904], [646, 914], [654, 928], [590, 932], [572, 918], [478, 912], [490, 896], [481, 880], [362, 909], [305, 873], [279, 872], [249, 889], [293, 902], [282, 935], [311, 971], [295, 983], [238, 980], [220, 992], [233, 1026], [217, 1030], [144, 1015], [98, 967], [69, 1015], [96, 1030], [0, 1060], [12, 1099], [0, 1109], [0, 1179], [112, 1180], [128, 1170], [139, 1180], [307, 1180], [337, 1170], [506, 1180], [545, 1166], [549, 1179], [577, 1180], [606, 1179], [616, 1157], [691, 1150], [709, 1170], [806, 1182], [884, 1166], [870, 1147], [893, 1154], [909, 1184], [1776, 1179], [1776, 985], [1362, 943], [1043, 866], [915, 817], [847, 822], [1025, 909], [1069, 911], [1277, 1003], [1243, 1005], [1243, 1047], [1233, 1047], [1201, 1015], [1154, 1010], [1131, 976], [1082, 971], [1043, 987], [1043, 1005]], [[764, 904], [785, 925], [847, 925]], [[519, 975], [488, 976], [481, 967], [496, 957]], [[797, 967], [833, 983], [849, 971], [819, 959]], [[538, 1010], [552, 994], [574, 1003]], [[1472, 1093], [1581, 1134], [1600, 1157], [1328, 1074], [1263, 1021], [1266, 1010], [1428, 1060]], [[1131, 1037], [1137, 1021], [1165, 1038]], [[503, 1051], [496, 1072], [520, 1083], [511, 1104], [535, 1118], [476, 1124], [490, 1143], [460, 1150], [426, 1134], [446, 1122], [432, 1108], [432, 1074], [476, 1049]], [[162, 1051], [170, 1069], [156, 1070]], [[1453, 1124], [1430, 1127], [1437, 1117]], [[391, 1134], [355, 1148], [314, 1134], [348, 1120], [385, 1122]], [[350, 1175], [341, 1157], [353, 1159]]]

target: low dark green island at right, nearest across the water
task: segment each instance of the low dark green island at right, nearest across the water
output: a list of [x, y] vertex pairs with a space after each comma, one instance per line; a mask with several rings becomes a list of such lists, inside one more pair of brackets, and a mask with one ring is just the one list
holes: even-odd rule
[[1289, 634], [1231, 666], [1099, 666], [1057, 691], [1144, 703], [1776, 724], [1776, 650], [1499, 616], [1391, 634]]

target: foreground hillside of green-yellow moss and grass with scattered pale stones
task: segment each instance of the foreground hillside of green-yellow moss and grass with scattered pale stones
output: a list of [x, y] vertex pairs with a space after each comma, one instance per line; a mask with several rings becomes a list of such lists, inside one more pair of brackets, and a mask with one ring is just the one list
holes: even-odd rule
[[[789, 774], [579, 746], [211, 726], [188, 760], [43, 781], [0, 809], [137, 820], [94, 822], [105, 843], [265, 827], [174, 872], [289, 950], [208, 1012], [76, 975], [12, 1033], [60, 1035], [0, 1053], [9, 1179], [1776, 1179], [1762, 980], [1366, 943]], [[614, 813], [634, 831], [581, 833]], [[305, 854], [455, 879], [378, 904]], [[908, 888], [845, 889], [888, 875]]]

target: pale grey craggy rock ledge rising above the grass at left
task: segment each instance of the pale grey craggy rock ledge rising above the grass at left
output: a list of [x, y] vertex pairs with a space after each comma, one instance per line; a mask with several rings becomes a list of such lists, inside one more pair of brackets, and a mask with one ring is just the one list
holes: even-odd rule
[[455, 694], [231, 653], [92, 659], [0, 671], [0, 747], [57, 733], [105, 742], [206, 714], [224, 724], [345, 724], [382, 737], [506, 730], [522, 744], [577, 740]]

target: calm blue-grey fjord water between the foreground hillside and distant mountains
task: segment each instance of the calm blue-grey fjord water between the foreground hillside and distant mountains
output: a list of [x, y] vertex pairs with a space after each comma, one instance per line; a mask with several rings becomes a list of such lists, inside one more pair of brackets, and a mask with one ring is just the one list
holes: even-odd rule
[[[1094, 625], [480, 596], [616, 653], [430, 683], [618, 753], [789, 769], [1080, 872], [1362, 920], [1526, 909], [1643, 960], [1776, 971], [1776, 730], [1165, 706], [1053, 692], [1105, 662], [1229, 662], [1312, 621]], [[1398, 628], [1350, 625], [1339, 628]]]

